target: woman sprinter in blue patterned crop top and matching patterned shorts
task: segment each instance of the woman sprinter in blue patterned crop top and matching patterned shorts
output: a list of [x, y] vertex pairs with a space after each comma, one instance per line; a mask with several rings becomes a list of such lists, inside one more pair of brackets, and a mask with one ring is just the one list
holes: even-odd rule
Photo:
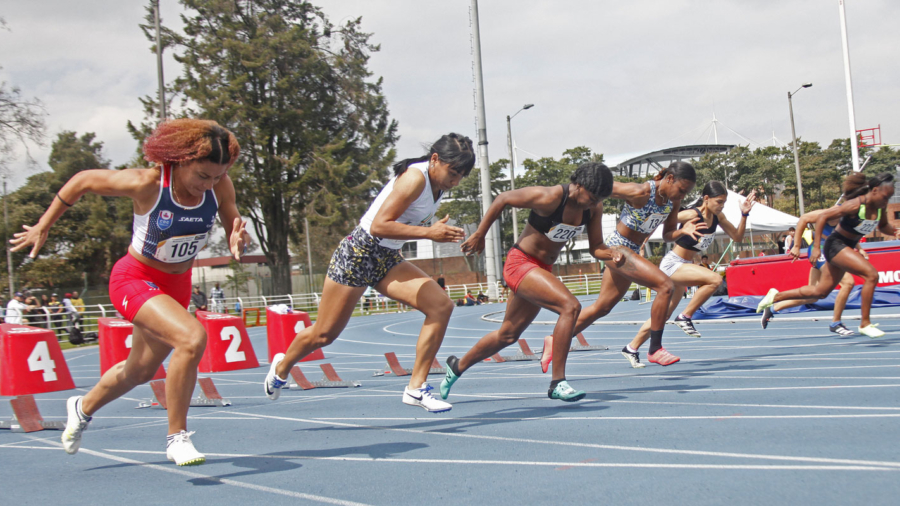
[[[700, 239], [700, 221], [696, 217], [678, 226], [678, 212], [681, 201], [694, 189], [697, 176], [694, 167], [687, 162], [674, 162], [661, 170], [652, 181], [646, 183], [615, 183], [612, 198], [625, 200], [622, 218], [616, 230], [606, 240], [607, 246], [616, 248], [625, 255], [623, 263], [607, 263], [600, 283], [597, 300], [581, 310], [574, 333], [577, 335], [588, 328], [598, 318], [606, 316], [620, 300], [631, 283], [646, 286], [656, 292], [656, 300], [650, 308], [650, 354], [651, 362], [670, 365], [680, 360], [662, 347], [663, 327], [669, 311], [669, 301], [675, 289], [674, 283], [659, 267], [653, 265], [638, 253], [656, 227], [663, 225], [663, 239], [674, 242], [679, 237]], [[623, 348], [635, 362], [640, 357], [635, 349]]]

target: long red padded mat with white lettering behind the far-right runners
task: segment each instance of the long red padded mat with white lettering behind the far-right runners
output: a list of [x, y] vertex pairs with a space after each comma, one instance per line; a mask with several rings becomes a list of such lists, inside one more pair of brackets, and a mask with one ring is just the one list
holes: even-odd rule
[[[878, 246], [876, 246], [878, 245]], [[869, 261], [878, 270], [878, 286], [900, 284], [900, 248], [897, 241], [868, 243], [865, 248]], [[731, 262], [726, 279], [728, 296], [765, 295], [770, 288], [791, 290], [809, 283], [809, 269], [806, 251], [801, 258], [791, 263], [790, 255], [771, 255], [744, 258]], [[861, 285], [863, 280], [856, 278]]]

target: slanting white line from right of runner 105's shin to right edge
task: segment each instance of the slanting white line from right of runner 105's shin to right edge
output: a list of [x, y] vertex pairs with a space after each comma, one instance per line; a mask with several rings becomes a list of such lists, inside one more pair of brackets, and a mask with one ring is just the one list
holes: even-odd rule
[[371, 425], [361, 425], [355, 423], [341, 423], [341, 422], [323, 422], [319, 420], [309, 419], [309, 418], [295, 418], [295, 417], [287, 417], [287, 416], [271, 416], [271, 415], [259, 415], [256, 413], [241, 413], [234, 411], [230, 414], [238, 414], [238, 415], [247, 415], [247, 416], [261, 416], [263, 418], [269, 418], [273, 420], [283, 420], [283, 421], [291, 421], [291, 422], [305, 422], [314, 425], [331, 425], [337, 427], [350, 427], [356, 429], [370, 429], [370, 430], [381, 430], [387, 432], [403, 432], [403, 433], [412, 433], [412, 434], [420, 434], [425, 436], [444, 436], [448, 438], [463, 438], [463, 439], [480, 439], [480, 440], [488, 440], [488, 441], [503, 441], [508, 443], [530, 443], [530, 444], [540, 444], [540, 445], [551, 445], [551, 446], [571, 446], [577, 448], [592, 448], [592, 449], [600, 449], [600, 450], [622, 450], [622, 451], [631, 451], [631, 452], [646, 452], [646, 453], [662, 453], [662, 454], [672, 454], [672, 455], [695, 455], [695, 456], [704, 456], [704, 457], [729, 457], [729, 458], [741, 458], [741, 459], [758, 459], [758, 460], [777, 460], [777, 461], [788, 461], [788, 462], [815, 462], [819, 464], [846, 464], [846, 465], [864, 465], [864, 466], [878, 466], [878, 467], [892, 467], [892, 468], [900, 468], [900, 462], [891, 462], [891, 461], [867, 461], [867, 460], [855, 460], [855, 459], [832, 459], [825, 457], [792, 457], [788, 455], [766, 455], [766, 454], [753, 454], [753, 453], [735, 453], [735, 452], [712, 452], [712, 451], [702, 451], [702, 450], [676, 450], [670, 448], [650, 448], [650, 447], [642, 447], [642, 446], [621, 446], [621, 445], [604, 445], [597, 443], [576, 443], [570, 441], [547, 441], [541, 439], [528, 439], [528, 438], [514, 438], [514, 437], [504, 437], [504, 436], [488, 436], [481, 434], [466, 434], [461, 432], [441, 432], [435, 430], [419, 430], [419, 429], [403, 429], [403, 428], [395, 428], [395, 427], [377, 427]]

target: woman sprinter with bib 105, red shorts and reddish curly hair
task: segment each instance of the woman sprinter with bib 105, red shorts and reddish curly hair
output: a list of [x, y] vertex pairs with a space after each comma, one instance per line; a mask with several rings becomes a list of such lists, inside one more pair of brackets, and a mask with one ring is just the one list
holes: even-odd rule
[[13, 251], [33, 244], [33, 258], [50, 227], [85, 193], [129, 197], [134, 203], [131, 246], [109, 278], [113, 306], [134, 324], [131, 352], [90, 392], [66, 402], [69, 416], [62, 434], [66, 453], [78, 451], [81, 434], [98, 409], [152, 379], [172, 352], [166, 374], [166, 457], [179, 466], [206, 461], [191, 443], [193, 432], [187, 432], [197, 366], [206, 349], [206, 331], [187, 311], [191, 265], [206, 246], [216, 214], [236, 259], [250, 242], [226, 173], [239, 153], [234, 134], [215, 121], [167, 121], [144, 142], [144, 158], [156, 167], [79, 172], [60, 188], [36, 225], [15, 234]]

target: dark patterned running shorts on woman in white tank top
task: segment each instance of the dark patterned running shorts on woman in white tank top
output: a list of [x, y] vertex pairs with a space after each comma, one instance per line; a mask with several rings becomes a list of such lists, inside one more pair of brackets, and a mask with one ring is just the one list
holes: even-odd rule
[[345, 286], [375, 286], [403, 262], [399, 250], [385, 248], [362, 227], [345, 237], [328, 264], [328, 277]]

